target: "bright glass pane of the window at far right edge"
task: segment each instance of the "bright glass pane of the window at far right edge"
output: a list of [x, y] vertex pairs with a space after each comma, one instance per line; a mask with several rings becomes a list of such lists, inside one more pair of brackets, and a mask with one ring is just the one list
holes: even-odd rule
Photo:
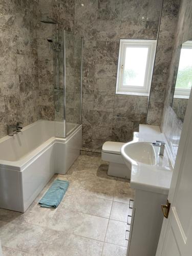
[[192, 85], [192, 49], [181, 49], [176, 88], [191, 89]]

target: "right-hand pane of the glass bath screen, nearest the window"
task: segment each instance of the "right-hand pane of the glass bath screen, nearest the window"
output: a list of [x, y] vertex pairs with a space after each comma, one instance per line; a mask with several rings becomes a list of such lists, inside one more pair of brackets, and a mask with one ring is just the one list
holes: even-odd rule
[[66, 133], [81, 122], [81, 37], [66, 32]]

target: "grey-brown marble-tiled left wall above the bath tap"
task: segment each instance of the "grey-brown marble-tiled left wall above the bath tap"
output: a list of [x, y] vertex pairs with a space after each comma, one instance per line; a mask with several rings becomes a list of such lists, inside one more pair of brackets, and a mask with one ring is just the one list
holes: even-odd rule
[[2, 0], [0, 5], [0, 137], [7, 124], [39, 118], [36, 1]]

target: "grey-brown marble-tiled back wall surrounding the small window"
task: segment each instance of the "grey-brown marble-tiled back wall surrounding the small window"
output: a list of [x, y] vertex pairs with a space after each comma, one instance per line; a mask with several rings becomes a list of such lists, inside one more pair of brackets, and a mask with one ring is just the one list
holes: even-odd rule
[[[156, 39], [161, 1], [39, 0], [38, 8], [40, 16], [50, 15], [60, 28], [84, 37], [83, 147], [100, 151], [106, 140], [132, 139], [133, 131], [146, 120], [148, 97], [115, 94], [119, 39]], [[67, 101], [73, 104], [70, 95]], [[49, 104], [50, 110], [51, 100]], [[45, 114], [41, 116], [53, 118], [52, 112]]]

